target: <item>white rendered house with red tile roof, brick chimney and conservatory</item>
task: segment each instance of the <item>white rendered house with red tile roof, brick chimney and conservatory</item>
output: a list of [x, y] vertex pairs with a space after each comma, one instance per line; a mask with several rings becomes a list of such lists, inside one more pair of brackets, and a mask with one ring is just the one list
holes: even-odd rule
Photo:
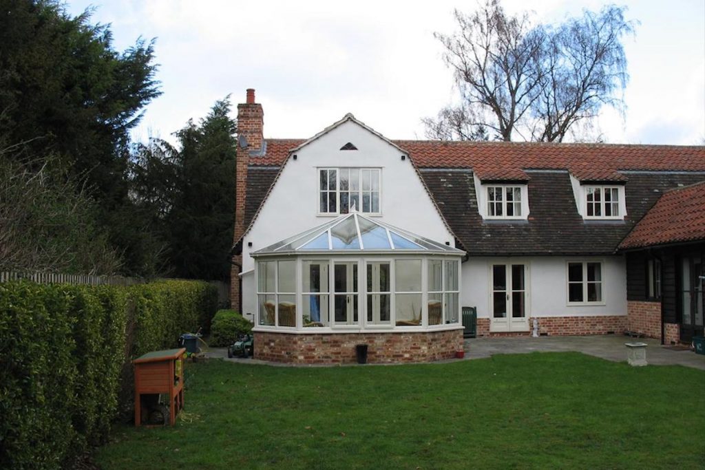
[[[661, 230], [662, 217], [637, 223], [705, 180], [705, 147], [388, 140], [351, 114], [265, 140], [263, 122], [248, 89], [231, 299], [255, 322], [256, 357], [354, 361], [364, 343], [370, 361], [444, 359], [462, 347], [463, 306], [479, 335], [702, 333], [704, 237], [682, 251], [629, 236]], [[649, 265], [661, 250], [672, 257]], [[642, 295], [646, 266], [663, 295], [666, 280], [684, 292], [680, 310], [675, 294]]]

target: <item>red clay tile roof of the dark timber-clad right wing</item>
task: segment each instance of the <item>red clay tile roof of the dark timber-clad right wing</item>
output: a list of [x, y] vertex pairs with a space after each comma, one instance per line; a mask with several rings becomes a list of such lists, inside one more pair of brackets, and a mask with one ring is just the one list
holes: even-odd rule
[[664, 193], [619, 247], [692, 240], [705, 240], [705, 181]]

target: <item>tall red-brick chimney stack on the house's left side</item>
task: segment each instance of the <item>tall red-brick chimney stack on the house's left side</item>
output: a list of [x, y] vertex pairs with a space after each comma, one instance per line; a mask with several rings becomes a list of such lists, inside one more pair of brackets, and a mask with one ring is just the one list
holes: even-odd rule
[[[262, 156], [266, 151], [262, 129], [264, 128], [264, 111], [262, 105], [255, 103], [255, 89], [247, 89], [245, 103], [238, 104], [238, 149], [235, 161], [235, 233], [233, 243], [237, 243], [245, 233], [245, 194], [247, 194], [247, 166], [250, 156]], [[243, 255], [233, 256], [233, 266], [230, 276], [231, 307], [241, 314], [240, 272], [243, 266]]]

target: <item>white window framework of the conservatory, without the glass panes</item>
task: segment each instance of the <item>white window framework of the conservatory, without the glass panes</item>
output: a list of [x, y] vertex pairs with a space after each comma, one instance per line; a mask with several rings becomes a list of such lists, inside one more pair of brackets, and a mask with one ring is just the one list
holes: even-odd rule
[[[259, 302], [259, 295], [260, 294], [271, 294], [275, 296], [275, 299], [278, 299], [276, 295], [278, 292], [260, 292], [259, 291], [259, 268], [260, 268], [260, 263], [264, 261], [274, 261], [274, 266], [275, 270], [278, 270], [278, 261], [283, 261], [285, 259], [290, 259], [290, 260], [295, 260], [296, 261], [296, 294], [295, 294], [295, 304], [296, 304], [296, 326], [295, 328], [293, 327], [286, 327], [286, 326], [277, 326], [278, 324], [278, 311], [276, 314], [276, 319], [275, 319], [275, 325], [261, 325], [259, 324], [260, 319], [262, 317], [262, 314], [264, 312], [262, 311], [262, 305]], [[422, 271], [421, 271], [421, 276], [422, 276], [422, 321], [419, 326], [396, 326], [396, 294], [397, 293], [405, 293], [405, 292], [396, 292], [396, 264], [394, 261], [398, 259], [420, 259], [422, 261]], [[443, 292], [442, 292], [442, 299], [443, 299], [443, 323], [440, 325], [431, 325], [429, 326], [428, 324], [428, 279], [427, 279], [427, 274], [428, 274], [428, 261], [429, 259], [439, 259], [443, 261]], [[303, 262], [304, 261], [313, 261], [313, 262], [318, 262], [320, 264], [325, 264], [329, 266], [329, 289], [327, 292], [303, 292]], [[357, 295], [358, 299], [358, 311], [357, 311], [357, 323], [353, 324], [339, 324], [336, 325], [334, 322], [334, 316], [335, 316], [335, 299], [334, 295], [336, 293], [334, 292], [335, 286], [334, 286], [334, 266], [335, 263], [341, 263], [341, 262], [353, 262], [357, 264], [358, 268], [358, 276], [357, 276], [357, 293], [352, 294], [352, 295]], [[379, 262], [388, 262], [390, 264], [390, 288], [391, 291], [389, 292], [390, 295], [390, 323], [389, 324], [372, 324], [372, 323], [367, 323], [367, 264], [368, 263], [379, 263]], [[446, 265], [448, 262], [455, 262], [455, 265], [457, 267], [456, 271], [456, 276], [458, 278], [458, 290], [448, 290], [447, 289], [447, 280], [446, 280]], [[257, 287], [257, 309], [255, 310], [255, 329], [256, 330], [261, 330], [261, 331], [278, 331], [281, 333], [335, 333], [335, 332], [348, 332], [348, 333], [357, 333], [357, 332], [375, 332], [375, 333], [401, 333], [401, 332], [419, 332], [419, 331], [424, 331], [424, 330], [446, 330], [448, 328], [450, 329], [455, 329], [455, 328], [461, 328], [461, 307], [460, 307], [460, 286], [462, 285], [462, 266], [460, 263], [460, 258], [456, 257], [451, 257], [451, 256], [428, 256], [424, 254], [409, 254], [407, 256], [379, 256], [377, 257], [364, 257], [364, 256], [296, 256], [296, 257], [267, 257], [264, 259], [257, 259], [255, 262], [255, 283]], [[278, 290], [278, 271], [275, 271], [275, 285], [276, 285], [276, 290]], [[408, 292], [407, 292], [408, 293]], [[417, 294], [418, 292], [411, 292]], [[303, 299], [305, 298], [305, 295], [311, 295], [311, 294], [317, 294], [317, 295], [325, 295], [328, 297], [328, 307], [329, 307], [329, 326], [323, 326], [323, 327], [307, 327], [304, 328], [303, 326]], [[338, 293], [339, 295], [342, 295], [341, 292]], [[446, 320], [448, 319], [449, 315], [446, 311], [446, 295], [447, 294], [455, 294], [458, 296], [458, 311], [456, 312], [456, 317], [458, 321], [455, 323], [445, 323]], [[290, 295], [290, 294], [286, 294]], [[347, 293], [345, 295], [348, 295]], [[277, 308], [278, 308], [278, 302], [277, 302]]]

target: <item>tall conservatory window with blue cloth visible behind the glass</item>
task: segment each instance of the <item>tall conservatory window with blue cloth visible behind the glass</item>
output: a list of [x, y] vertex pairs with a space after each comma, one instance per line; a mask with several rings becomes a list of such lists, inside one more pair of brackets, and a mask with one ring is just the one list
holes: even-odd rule
[[302, 261], [303, 326], [329, 326], [328, 261]]

